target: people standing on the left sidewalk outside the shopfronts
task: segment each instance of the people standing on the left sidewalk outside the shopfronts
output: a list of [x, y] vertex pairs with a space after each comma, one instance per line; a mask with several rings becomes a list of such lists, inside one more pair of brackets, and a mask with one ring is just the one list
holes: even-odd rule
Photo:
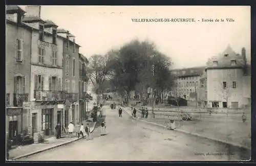
[[[60, 123], [56, 125], [55, 130], [56, 130], [56, 138], [59, 139], [61, 137]], [[68, 126], [68, 137], [70, 136], [72, 137], [73, 133], [75, 133], [75, 136], [77, 136], [78, 138], [80, 137], [80, 135], [82, 135], [82, 137], [84, 138], [84, 135], [86, 135], [86, 138], [90, 139], [89, 123], [87, 123], [87, 125], [84, 127], [82, 123], [81, 124], [77, 123], [77, 125], [74, 126], [74, 124], [70, 122]]]

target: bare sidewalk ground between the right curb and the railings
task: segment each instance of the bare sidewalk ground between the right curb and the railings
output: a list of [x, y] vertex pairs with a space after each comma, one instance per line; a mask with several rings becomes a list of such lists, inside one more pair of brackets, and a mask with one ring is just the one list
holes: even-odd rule
[[[131, 108], [126, 107], [124, 110], [130, 115]], [[137, 120], [165, 127], [165, 121], [168, 118], [156, 117], [152, 118], [151, 115], [148, 118], [140, 118], [141, 114], [137, 115]], [[250, 122], [238, 123], [238, 122], [207, 122], [207, 121], [175, 121], [176, 131], [204, 137], [207, 139], [212, 139], [220, 141], [225, 144], [230, 144], [233, 146], [239, 146], [243, 148], [251, 148], [251, 127]]]

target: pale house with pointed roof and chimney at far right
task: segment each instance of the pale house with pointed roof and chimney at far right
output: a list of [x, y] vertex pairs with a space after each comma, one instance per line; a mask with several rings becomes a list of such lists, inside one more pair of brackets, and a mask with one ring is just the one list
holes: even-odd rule
[[242, 55], [230, 47], [206, 67], [209, 107], [244, 108], [250, 105], [250, 73], [245, 49]]

